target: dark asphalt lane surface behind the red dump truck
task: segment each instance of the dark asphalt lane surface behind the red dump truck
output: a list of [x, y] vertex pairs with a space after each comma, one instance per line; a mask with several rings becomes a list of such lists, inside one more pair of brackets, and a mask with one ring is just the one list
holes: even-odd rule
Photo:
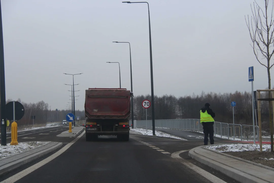
[[[120, 142], [115, 136], [100, 136], [96, 142], [86, 142], [84, 134], [62, 154], [31, 173], [20, 176], [16, 183], [210, 183], [208, 179], [171, 157], [171, 154], [176, 151], [189, 150], [200, 145], [203, 145], [200, 140], [182, 141], [142, 136], [130, 136], [129, 142]], [[164, 154], [161, 151], [170, 154]], [[182, 153], [181, 156], [185, 159], [189, 158], [187, 152]], [[187, 161], [227, 183], [237, 183], [194, 160]], [[0, 181], [30, 166], [31, 164], [23, 165], [0, 178]]]

